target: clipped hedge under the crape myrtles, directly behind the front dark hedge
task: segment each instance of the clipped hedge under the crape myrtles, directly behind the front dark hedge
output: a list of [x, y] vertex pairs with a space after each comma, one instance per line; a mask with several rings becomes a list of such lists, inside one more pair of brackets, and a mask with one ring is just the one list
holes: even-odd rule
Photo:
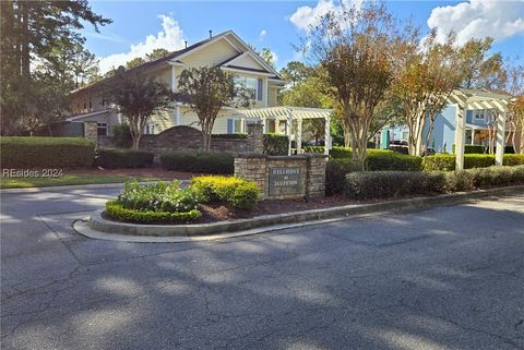
[[393, 152], [376, 152], [366, 157], [365, 167], [368, 171], [420, 171], [422, 169], [422, 158]]

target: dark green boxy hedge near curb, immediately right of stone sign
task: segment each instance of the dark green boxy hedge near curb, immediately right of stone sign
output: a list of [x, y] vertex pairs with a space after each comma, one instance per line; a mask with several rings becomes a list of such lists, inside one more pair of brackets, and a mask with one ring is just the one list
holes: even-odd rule
[[441, 172], [361, 171], [346, 176], [344, 193], [352, 198], [385, 198], [410, 194], [431, 194], [445, 190]]

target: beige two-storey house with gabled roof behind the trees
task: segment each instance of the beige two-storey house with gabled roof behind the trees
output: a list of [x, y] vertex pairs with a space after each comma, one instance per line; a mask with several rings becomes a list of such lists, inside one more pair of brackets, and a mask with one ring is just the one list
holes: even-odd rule
[[[136, 69], [154, 74], [176, 90], [180, 73], [184, 69], [198, 67], [221, 67], [224, 71], [234, 73], [239, 83], [252, 89], [253, 108], [275, 107], [278, 89], [284, 87], [284, 81], [278, 73], [231, 31]], [[75, 123], [97, 122], [99, 135], [111, 135], [111, 128], [124, 119], [109, 108], [103, 95], [104, 81], [72, 92], [73, 116], [67, 120]], [[225, 107], [215, 121], [213, 133], [242, 132], [243, 122], [234, 108]], [[144, 132], [157, 134], [176, 125], [200, 126], [198, 117], [186, 105], [177, 102], [171, 110], [151, 118]], [[265, 130], [274, 129], [274, 121], [267, 120]]]

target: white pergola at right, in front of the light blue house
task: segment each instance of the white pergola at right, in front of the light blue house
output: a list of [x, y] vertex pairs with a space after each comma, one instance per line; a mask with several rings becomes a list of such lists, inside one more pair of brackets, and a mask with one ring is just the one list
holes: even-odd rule
[[[456, 106], [455, 116], [455, 169], [464, 169], [464, 144], [466, 140], [466, 110], [496, 109], [497, 136], [495, 165], [501, 166], [504, 158], [505, 122], [510, 96], [479, 89], [461, 88], [453, 92], [450, 102]], [[472, 134], [473, 138], [473, 134]]]

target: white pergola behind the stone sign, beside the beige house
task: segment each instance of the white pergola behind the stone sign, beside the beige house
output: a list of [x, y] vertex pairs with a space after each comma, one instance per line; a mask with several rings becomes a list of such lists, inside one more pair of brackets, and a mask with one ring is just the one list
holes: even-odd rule
[[[297, 154], [302, 152], [302, 121], [306, 119], [323, 119], [325, 122], [325, 137], [324, 137], [324, 154], [329, 155], [331, 149], [331, 109], [321, 109], [321, 108], [306, 108], [306, 107], [291, 107], [291, 106], [282, 106], [282, 107], [265, 107], [265, 108], [253, 108], [253, 109], [240, 109], [237, 110], [237, 113], [240, 116], [240, 125], [243, 124], [246, 120], [258, 120], [264, 125], [264, 132], [266, 132], [266, 121], [274, 120], [275, 122], [284, 121], [287, 125], [286, 134], [288, 137], [288, 155], [291, 154], [291, 140], [295, 138], [297, 144]], [[294, 121], [297, 122], [296, 132], [293, 128]], [[279, 128], [275, 124], [275, 132], [279, 133]], [[295, 133], [295, 134], [294, 134]]]

